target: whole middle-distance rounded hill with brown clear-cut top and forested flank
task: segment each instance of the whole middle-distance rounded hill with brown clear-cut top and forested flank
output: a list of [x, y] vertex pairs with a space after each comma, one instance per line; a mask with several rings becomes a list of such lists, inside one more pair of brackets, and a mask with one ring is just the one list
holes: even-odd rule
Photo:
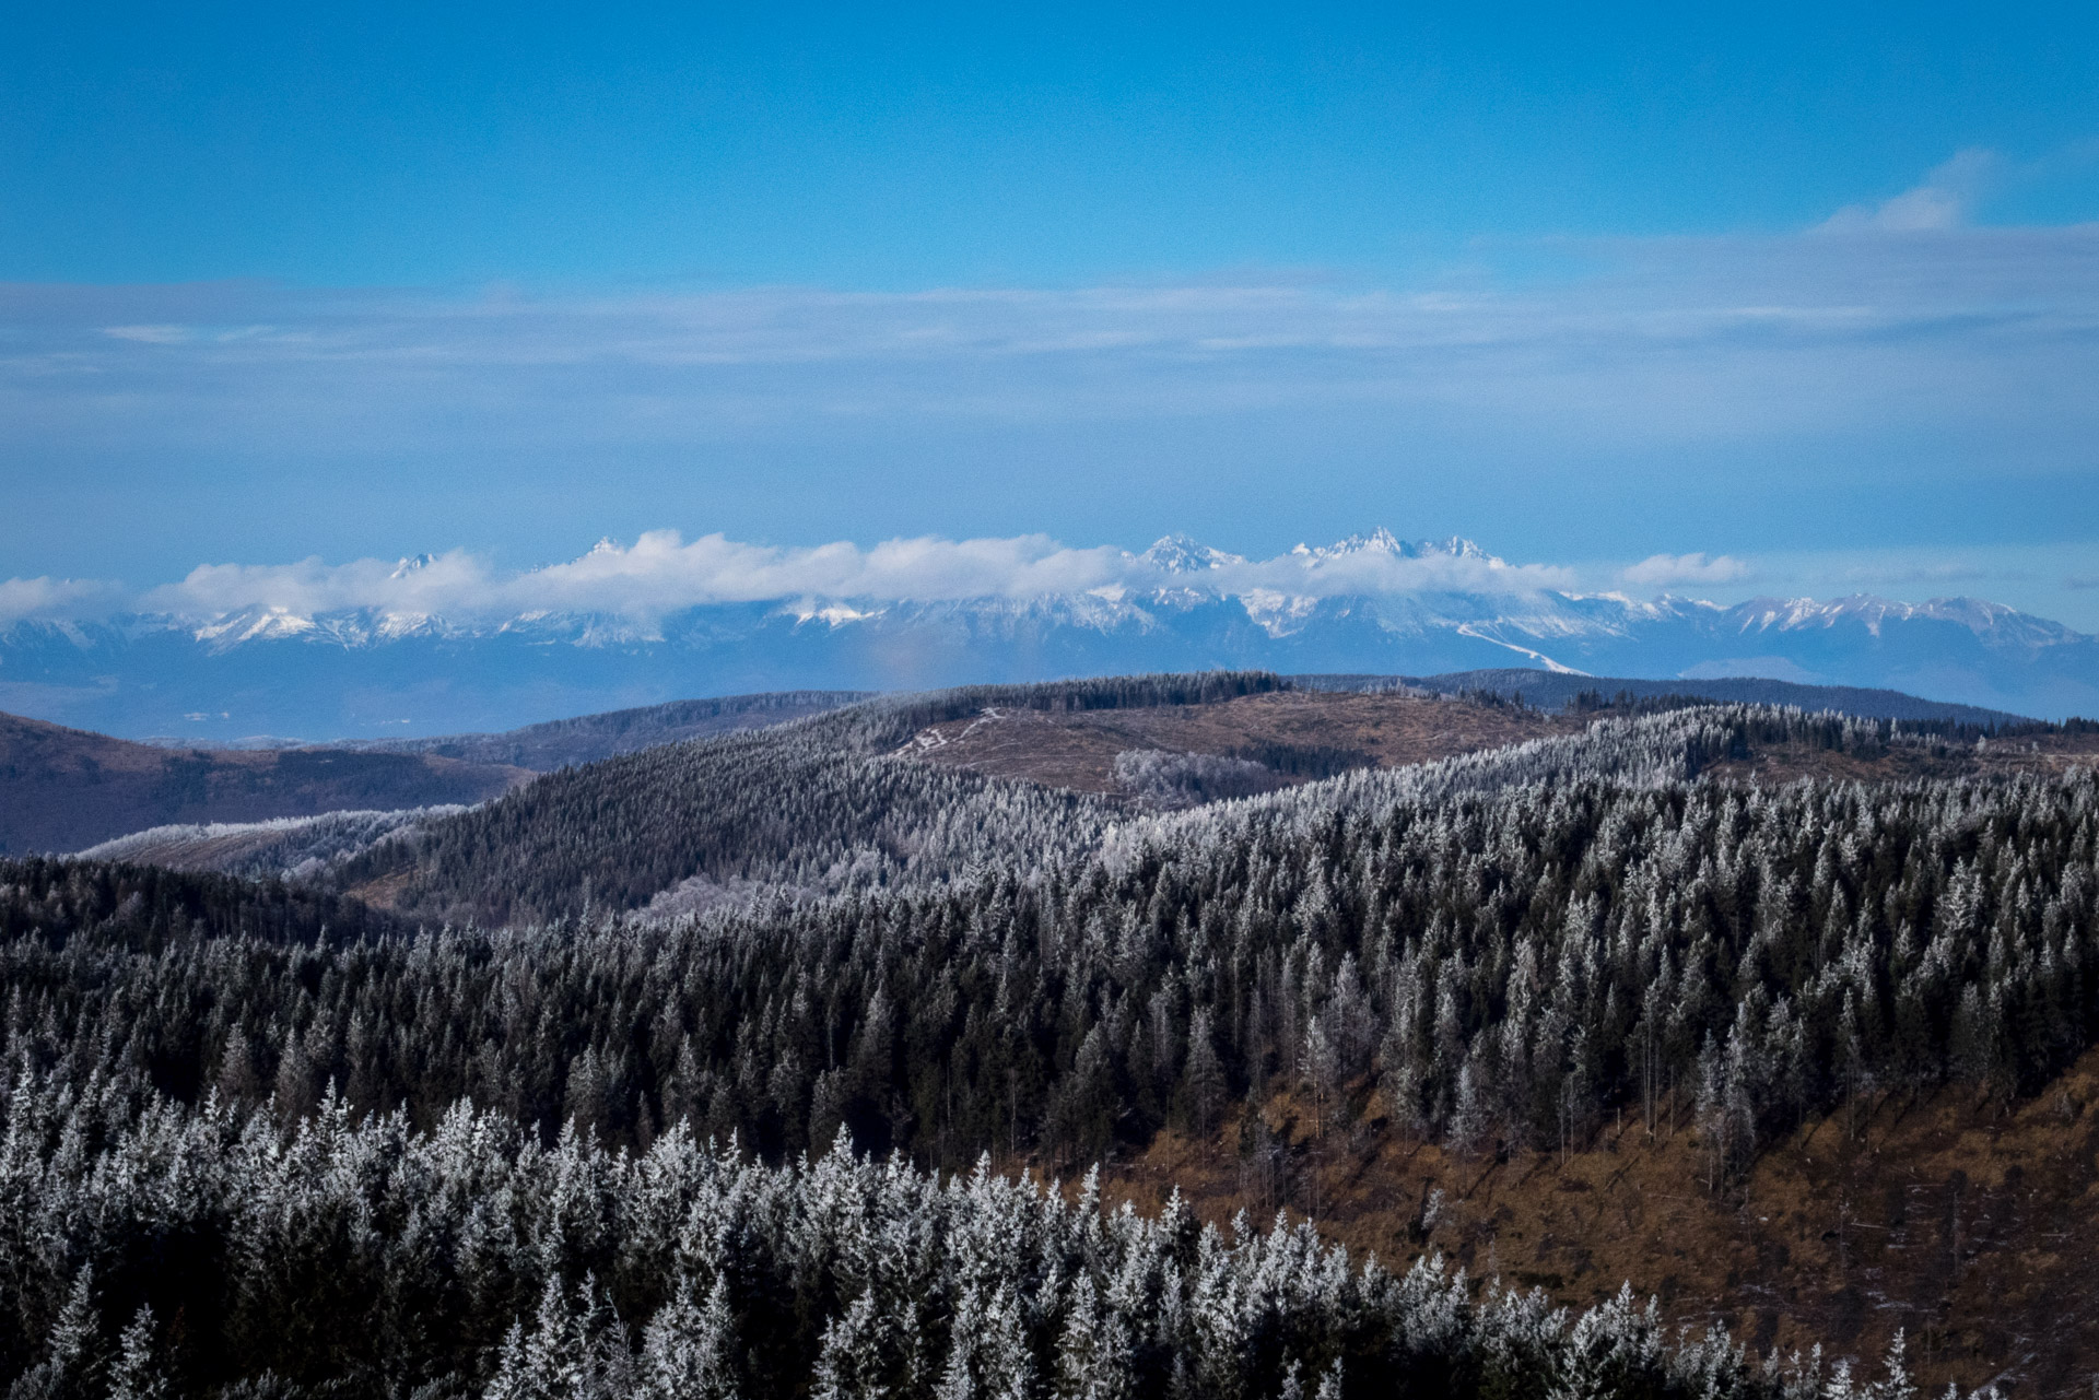
[[1778, 764], [1778, 777], [2049, 770], [2099, 749], [2099, 735], [2030, 728], [1990, 749], [1977, 739], [1994, 726], [1757, 707], [1551, 716], [1499, 701], [1306, 693], [1261, 672], [978, 686], [554, 772], [424, 823], [414, 842], [382, 842], [336, 877], [426, 921], [676, 913], [754, 888], [821, 894], [972, 865], [1056, 865], [1133, 812], [1463, 754], [1482, 756], [1478, 770], [1497, 781], [1532, 781], [1755, 775], [1759, 764]]

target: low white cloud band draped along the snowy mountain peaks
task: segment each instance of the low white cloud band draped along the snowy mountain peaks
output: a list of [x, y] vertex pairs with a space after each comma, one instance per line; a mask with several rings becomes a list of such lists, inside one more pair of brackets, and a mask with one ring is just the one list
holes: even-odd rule
[[[1522, 604], [1545, 594], [1593, 594], [1610, 588], [1690, 590], [1721, 602], [1746, 588], [1780, 588], [1788, 596], [1826, 596], [1879, 586], [1897, 598], [1939, 596], [1965, 579], [2049, 579], [2049, 590], [2013, 588], [2000, 598], [2057, 615], [2099, 575], [2070, 573], [2063, 563], [2013, 550], [1994, 563], [1856, 554], [1759, 556], [1652, 554], [1629, 567], [1566, 567], [1507, 563], [1492, 554], [1446, 546], [1398, 546], [1387, 535], [1306, 548], [1268, 558], [1211, 554], [1211, 567], [1173, 571], [1115, 546], [1068, 546], [1050, 535], [949, 539], [913, 535], [873, 546], [831, 542], [768, 546], [709, 533], [646, 531], [632, 542], [602, 539], [596, 548], [539, 569], [497, 569], [489, 558], [449, 550], [411, 560], [304, 558], [281, 565], [199, 565], [172, 584], [130, 590], [107, 579], [0, 581], [0, 623], [88, 621], [124, 613], [176, 617], [199, 628], [290, 625], [323, 615], [367, 615], [388, 623], [447, 619], [493, 623], [546, 613], [615, 617], [642, 628], [707, 604], [775, 604], [814, 615], [827, 609], [871, 613], [892, 602], [1094, 596], [1133, 602], [1157, 590], [1196, 588], [1213, 596], [1291, 607], [1295, 600], [1369, 596], [1411, 598], [1436, 607], [1436, 594], [1492, 596]], [[2002, 554], [2002, 552], [2000, 552]], [[2082, 563], [2068, 552], [2074, 569]], [[2059, 579], [2059, 586], [2055, 584]], [[1872, 588], [1879, 592], [1879, 588]], [[277, 615], [275, 619], [271, 615]]]

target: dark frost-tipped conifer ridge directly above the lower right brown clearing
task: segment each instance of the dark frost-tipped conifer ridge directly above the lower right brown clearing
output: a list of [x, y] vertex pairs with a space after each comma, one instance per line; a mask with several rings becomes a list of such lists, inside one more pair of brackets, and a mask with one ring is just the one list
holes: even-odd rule
[[[237, 1043], [277, 1047], [279, 1073], [304, 1058], [277, 1081], [292, 1102], [336, 1075], [361, 1106], [434, 1112], [466, 1089], [535, 1123], [581, 1112], [646, 1138], [695, 1117], [772, 1150], [850, 1121], [963, 1161], [1022, 1131], [1083, 1161], [1303, 1083], [1341, 1119], [1471, 1146], [1696, 1102], [1732, 1171], [1866, 1083], [2013, 1096], [2093, 1043], [2089, 770], [1776, 791], [1685, 777], [1740, 722], [1620, 722], [1119, 825], [928, 775], [905, 796], [976, 802], [921, 846], [945, 852], [942, 879], [640, 930], [430, 934], [342, 953], [319, 989], [281, 940], [239, 970], [174, 940], [151, 1003], [235, 1020], [185, 1041], [122, 1014], [132, 1039], [199, 1056], [155, 1070], [170, 1083]], [[84, 928], [25, 951], [17, 984], [50, 989], [84, 1033], [126, 984], [97, 959], [128, 949]], [[437, 1039], [351, 1049], [344, 1026], [388, 1018], [363, 999], [399, 976], [439, 993], [416, 1031]]]

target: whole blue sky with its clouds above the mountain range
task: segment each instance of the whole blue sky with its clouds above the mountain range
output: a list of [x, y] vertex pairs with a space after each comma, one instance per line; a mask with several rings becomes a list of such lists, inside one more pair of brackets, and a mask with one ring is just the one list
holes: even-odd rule
[[19, 6], [0, 611], [1385, 525], [2099, 630], [2089, 6], [993, 8]]

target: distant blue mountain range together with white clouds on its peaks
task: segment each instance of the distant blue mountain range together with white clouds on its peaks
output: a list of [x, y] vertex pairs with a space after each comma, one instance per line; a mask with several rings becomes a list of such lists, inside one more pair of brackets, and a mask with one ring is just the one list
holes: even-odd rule
[[[1610, 571], [1646, 590], [1730, 556]], [[1721, 607], [1578, 590], [1467, 539], [1379, 529], [1243, 558], [1171, 535], [1142, 554], [1047, 535], [775, 548], [672, 531], [500, 571], [411, 560], [210, 565], [178, 584], [8, 586], [0, 709], [124, 735], [495, 730], [693, 695], [1266, 667], [1763, 676], [2019, 714], [2099, 703], [2099, 638], [1971, 598]]]

